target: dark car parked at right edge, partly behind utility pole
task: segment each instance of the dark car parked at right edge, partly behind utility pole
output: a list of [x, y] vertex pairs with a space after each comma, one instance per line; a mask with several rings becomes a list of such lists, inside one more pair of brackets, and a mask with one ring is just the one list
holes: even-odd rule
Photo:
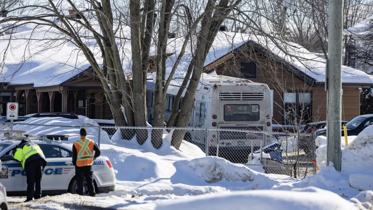
[[[353, 118], [351, 121], [346, 123], [347, 135], [356, 136], [359, 135], [366, 127], [373, 123], [373, 114], [364, 114]], [[316, 135], [326, 136], [326, 128], [317, 130]], [[341, 129], [341, 136], [345, 136], [343, 128]]]

